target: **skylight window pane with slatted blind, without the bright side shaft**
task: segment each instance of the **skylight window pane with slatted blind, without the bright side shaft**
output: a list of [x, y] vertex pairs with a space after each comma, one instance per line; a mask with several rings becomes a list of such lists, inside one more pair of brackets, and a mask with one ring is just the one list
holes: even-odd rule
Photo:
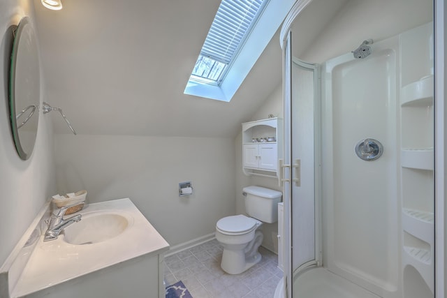
[[268, 0], [223, 0], [190, 80], [219, 85]]

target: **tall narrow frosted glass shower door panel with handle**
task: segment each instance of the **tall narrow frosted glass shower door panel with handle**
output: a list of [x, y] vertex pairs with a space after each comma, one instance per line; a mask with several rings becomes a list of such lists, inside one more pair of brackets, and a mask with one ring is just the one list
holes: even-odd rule
[[293, 58], [291, 70], [292, 264], [295, 274], [302, 267], [318, 262], [316, 121], [319, 109], [317, 66]]

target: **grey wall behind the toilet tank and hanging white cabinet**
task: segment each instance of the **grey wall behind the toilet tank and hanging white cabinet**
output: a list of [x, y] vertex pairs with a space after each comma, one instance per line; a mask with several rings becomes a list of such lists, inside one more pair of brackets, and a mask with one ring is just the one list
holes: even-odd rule
[[[279, 43], [278, 43], [279, 47]], [[260, 119], [267, 119], [269, 114], [273, 114], [274, 117], [283, 118], [283, 97], [282, 97], [282, 85], [280, 84], [270, 96], [267, 97], [265, 103], [252, 115], [249, 121], [255, 121]], [[282, 191], [278, 185], [278, 180], [268, 177], [256, 177], [246, 176], [242, 172], [242, 126], [241, 133], [235, 138], [235, 151], [236, 151], [236, 214], [245, 214], [244, 196], [242, 195], [242, 188], [249, 185], [263, 186], [266, 188], [272, 188], [277, 191]], [[277, 253], [278, 251], [278, 224], [277, 223], [263, 223], [262, 226], [264, 239], [263, 244], [265, 248]]]

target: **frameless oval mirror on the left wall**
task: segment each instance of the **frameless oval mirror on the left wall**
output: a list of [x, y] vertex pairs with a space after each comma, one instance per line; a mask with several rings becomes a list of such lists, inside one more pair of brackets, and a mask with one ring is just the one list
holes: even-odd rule
[[15, 29], [9, 82], [9, 118], [15, 149], [20, 158], [27, 160], [36, 141], [41, 98], [38, 48], [29, 17], [23, 17]]

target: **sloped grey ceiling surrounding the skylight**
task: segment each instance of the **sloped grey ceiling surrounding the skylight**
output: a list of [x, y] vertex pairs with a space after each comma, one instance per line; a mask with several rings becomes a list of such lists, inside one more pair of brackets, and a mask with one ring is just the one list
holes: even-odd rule
[[40, 2], [44, 100], [80, 134], [234, 137], [281, 84], [277, 33], [230, 103], [183, 94], [219, 0]]

